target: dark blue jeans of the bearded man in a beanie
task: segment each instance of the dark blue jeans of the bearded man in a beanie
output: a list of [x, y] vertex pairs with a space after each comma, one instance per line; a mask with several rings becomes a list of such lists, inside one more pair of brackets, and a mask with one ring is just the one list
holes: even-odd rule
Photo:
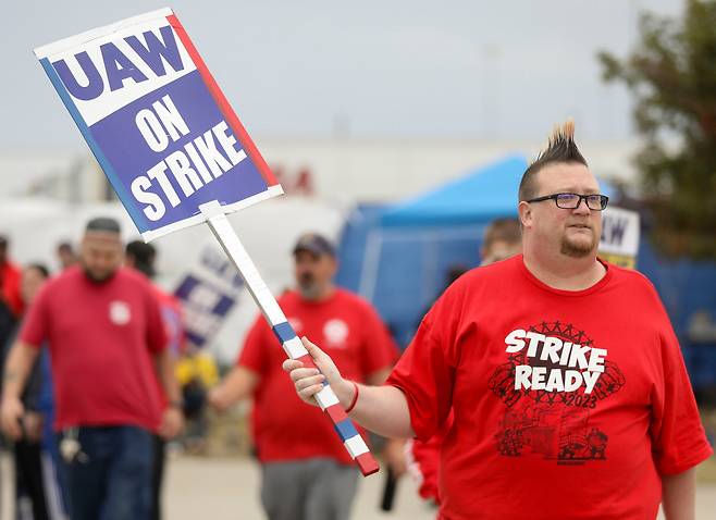
[[81, 454], [63, 461], [72, 520], [145, 520], [151, 434], [136, 426], [82, 426]]

